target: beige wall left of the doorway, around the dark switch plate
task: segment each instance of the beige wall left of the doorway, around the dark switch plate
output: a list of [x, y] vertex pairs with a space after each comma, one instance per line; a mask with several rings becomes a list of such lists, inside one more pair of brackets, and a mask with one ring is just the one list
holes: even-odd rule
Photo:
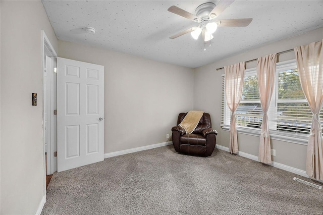
[[1, 1], [1, 214], [35, 214], [44, 196], [42, 29], [57, 50], [40, 1]]

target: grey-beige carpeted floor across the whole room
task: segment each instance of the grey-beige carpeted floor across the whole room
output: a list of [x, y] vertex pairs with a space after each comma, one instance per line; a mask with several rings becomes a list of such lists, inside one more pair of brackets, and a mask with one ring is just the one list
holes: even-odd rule
[[106, 158], [53, 175], [42, 214], [323, 214], [322, 185], [214, 149], [210, 157], [172, 145]]

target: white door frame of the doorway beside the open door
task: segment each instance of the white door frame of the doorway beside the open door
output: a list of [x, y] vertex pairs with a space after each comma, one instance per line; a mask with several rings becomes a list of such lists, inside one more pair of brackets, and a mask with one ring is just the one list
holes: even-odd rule
[[[46, 69], [46, 56], [49, 56], [51, 58], [57, 58], [57, 53], [55, 51], [55, 49], [52, 47], [48, 37], [46, 36], [45, 32], [43, 30], [41, 30], [41, 46], [42, 46], [42, 55], [41, 55], [41, 63], [42, 63], [42, 70], [41, 70], [41, 73], [42, 73], [42, 95], [43, 95], [43, 102], [42, 102], [42, 109], [43, 109], [43, 169], [44, 169], [44, 195], [46, 195], [46, 175], [51, 175], [53, 172], [55, 172], [53, 170], [53, 160], [52, 160], [52, 156], [47, 156], [47, 170], [48, 170], [48, 173], [50, 174], [47, 174], [46, 173], [46, 156], [45, 156], [45, 153], [46, 153], [46, 147], [45, 147], [45, 119], [44, 119], [44, 70]], [[53, 61], [55, 62], [55, 61]], [[52, 65], [52, 68], [55, 67], [55, 65]], [[53, 71], [47, 71], [47, 76], [48, 79], [49, 79], [49, 82], [48, 82], [48, 79], [47, 79], [47, 86], [49, 85], [50, 86], [50, 98], [47, 97], [47, 99], [50, 99], [51, 101], [55, 101], [53, 103], [56, 103], [56, 93], [55, 93], [55, 90], [56, 90], [56, 83], [55, 83], [55, 76], [54, 76], [54, 73]], [[52, 103], [52, 102], [51, 102]], [[47, 102], [48, 104], [48, 102]], [[53, 125], [54, 123], [54, 119], [53, 118], [53, 108], [54, 105], [50, 105], [50, 111], [47, 111], [47, 119], [49, 118], [50, 119], [50, 123], [51, 125]], [[48, 120], [47, 120], [48, 122]], [[55, 124], [56, 125], [56, 124]], [[51, 139], [53, 137], [53, 134], [56, 134], [56, 127], [55, 126], [50, 126], [50, 130], [48, 131], [48, 133], [50, 133], [51, 135]], [[48, 155], [53, 155], [53, 145], [55, 143], [53, 141], [50, 141], [49, 145], [47, 144], [47, 150], [48, 151]], [[49, 146], [49, 147], [48, 147]], [[57, 164], [56, 164], [56, 167], [57, 167]]]

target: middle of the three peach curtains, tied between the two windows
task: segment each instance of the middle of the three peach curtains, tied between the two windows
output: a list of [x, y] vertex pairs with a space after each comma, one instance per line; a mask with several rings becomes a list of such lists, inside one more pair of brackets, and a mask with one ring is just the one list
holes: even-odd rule
[[272, 163], [267, 112], [271, 103], [275, 85], [276, 61], [277, 53], [258, 58], [257, 61], [259, 97], [263, 112], [258, 159], [260, 162], [265, 164]]

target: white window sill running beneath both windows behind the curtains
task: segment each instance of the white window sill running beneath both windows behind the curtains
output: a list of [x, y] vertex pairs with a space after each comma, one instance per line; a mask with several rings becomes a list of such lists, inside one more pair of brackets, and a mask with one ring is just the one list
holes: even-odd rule
[[[225, 131], [230, 130], [230, 126], [228, 125], [221, 125], [221, 127]], [[260, 129], [243, 128], [243, 127], [237, 126], [237, 132], [240, 134], [247, 134], [247, 135], [260, 137]], [[296, 143], [301, 145], [307, 145], [307, 142], [308, 142], [307, 134], [297, 134], [297, 133], [287, 134], [286, 132], [270, 130], [270, 137], [273, 140], [280, 140], [280, 141], [291, 142], [291, 143]]]

